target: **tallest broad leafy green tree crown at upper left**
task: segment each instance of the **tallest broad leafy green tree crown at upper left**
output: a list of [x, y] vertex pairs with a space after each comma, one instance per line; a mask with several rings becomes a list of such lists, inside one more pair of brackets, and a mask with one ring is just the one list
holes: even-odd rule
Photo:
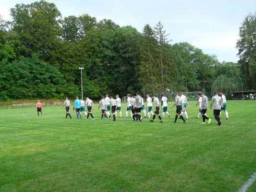
[[55, 4], [44, 0], [17, 4], [11, 9], [11, 16], [12, 30], [22, 42], [21, 55], [29, 57], [37, 52], [48, 61], [61, 36], [61, 12]]

